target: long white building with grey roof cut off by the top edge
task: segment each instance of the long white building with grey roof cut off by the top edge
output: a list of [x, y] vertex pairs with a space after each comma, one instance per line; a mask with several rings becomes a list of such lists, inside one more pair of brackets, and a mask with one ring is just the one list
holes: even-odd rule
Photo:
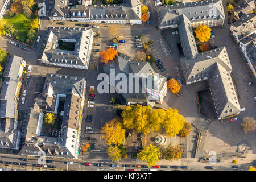
[[123, 0], [121, 5], [82, 5], [68, 6], [68, 0], [55, 0], [49, 5], [49, 19], [77, 22], [142, 24], [141, 3], [139, 0]]

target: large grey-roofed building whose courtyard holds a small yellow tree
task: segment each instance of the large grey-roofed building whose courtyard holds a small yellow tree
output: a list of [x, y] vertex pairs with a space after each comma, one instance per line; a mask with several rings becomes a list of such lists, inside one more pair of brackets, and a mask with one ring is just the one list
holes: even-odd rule
[[[40, 156], [45, 153], [47, 157], [77, 159], [85, 89], [85, 78], [47, 74], [42, 96], [35, 100], [34, 114], [28, 118], [26, 141], [19, 154]], [[40, 109], [36, 109], [37, 105]], [[45, 133], [39, 135], [42, 127], [40, 110], [57, 114], [61, 119], [60, 135], [51, 135], [52, 131], [48, 134], [44, 129]]]

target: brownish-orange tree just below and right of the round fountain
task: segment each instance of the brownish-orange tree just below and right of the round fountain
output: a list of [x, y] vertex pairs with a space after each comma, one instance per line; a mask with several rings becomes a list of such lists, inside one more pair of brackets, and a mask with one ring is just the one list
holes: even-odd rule
[[161, 158], [166, 160], [178, 160], [181, 158], [183, 150], [180, 146], [172, 146], [170, 144], [167, 148], [161, 148]]

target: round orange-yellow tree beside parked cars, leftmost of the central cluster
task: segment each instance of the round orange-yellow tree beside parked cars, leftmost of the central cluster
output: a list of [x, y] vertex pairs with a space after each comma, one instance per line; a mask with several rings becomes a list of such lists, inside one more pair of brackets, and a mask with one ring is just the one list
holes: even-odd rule
[[117, 144], [119, 146], [125, 139], [125, 129], [123, 129], [121, 122], [118, 119], [112, 119], [106, 122], [101, 129], [102, 139], [105, 140], [107, 146]]

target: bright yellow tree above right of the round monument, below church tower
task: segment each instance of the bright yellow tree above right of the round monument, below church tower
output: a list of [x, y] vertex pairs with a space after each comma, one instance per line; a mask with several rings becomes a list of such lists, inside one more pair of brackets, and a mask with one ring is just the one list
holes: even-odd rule
[[185, 125], [185, 119], [176, 109], [169, 108], [166, 111], [166, 119], [163, 122], [163, 127], [169, 137], [175, 137]]

